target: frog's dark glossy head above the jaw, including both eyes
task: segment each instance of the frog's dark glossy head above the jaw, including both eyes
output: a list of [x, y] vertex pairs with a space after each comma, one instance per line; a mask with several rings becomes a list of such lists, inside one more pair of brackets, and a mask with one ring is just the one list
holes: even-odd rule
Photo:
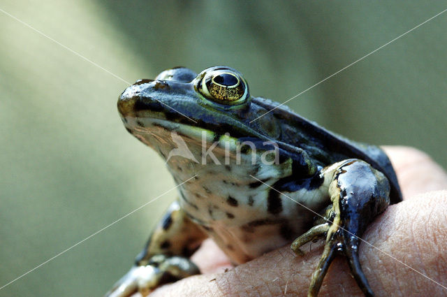
[[196, 75], [177, 67], [128, 87], [118, 110], [131, 133], [166, 121], [221, 135], [277, 138], [279, 126], [269, 115], [259, 117], [268, 110], [251, 99], [246, 80], [233, 68], [214, 66]]

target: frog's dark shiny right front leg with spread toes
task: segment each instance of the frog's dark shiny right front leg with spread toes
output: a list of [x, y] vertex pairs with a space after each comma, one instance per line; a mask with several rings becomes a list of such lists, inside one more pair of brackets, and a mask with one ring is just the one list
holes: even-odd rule
[[332, 202], [324, 219], [297, 238], [291, 248], [302, 254], [300, 246], [317, 238], [326, 238], [323, 254], [312, 275], [308, 296], [316, 296], [337, 253], [344, 254], [358, 286], [365, 296], [374, 296], [358, 259], [360, 238], [370, 222], [390, 204], [390, 184], [385, 175], [365, 161], [349, 159], [334, 164], [323, 172], [329, 180]]

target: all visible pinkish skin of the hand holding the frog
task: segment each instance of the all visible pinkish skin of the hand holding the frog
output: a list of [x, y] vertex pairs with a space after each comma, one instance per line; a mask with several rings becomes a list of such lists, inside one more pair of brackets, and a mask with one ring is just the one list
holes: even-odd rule
[[[360, 245], [362, 269], [376, 296], [447, 296], [446, 172], [411, 147], [383, 150], [404, 201], [390, 205], [363, 234], [368, 243]], [[302, 250], [305, 255], [296, 256], [289, 246], [281, 247], [232, 268], [214, 242], [206, 240], [192, 257], [202, 275], [167, 284], [149, 296], [307, 296], [322, 245], [311, 243]], [[342, 256], [332, 262], [318, 296], [363, 296]]]

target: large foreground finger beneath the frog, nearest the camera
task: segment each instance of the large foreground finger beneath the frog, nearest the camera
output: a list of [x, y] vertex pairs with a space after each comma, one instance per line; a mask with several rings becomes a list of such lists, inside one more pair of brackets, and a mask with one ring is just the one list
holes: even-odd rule
[[[371, 245], [362, 242], [360, 262], [376, 296], [446, 296], [439, 284], [447, 288], [447, 191], [427, 195], [390, 207], [365, 233]], [[284, 247], [227, 273], [163, 286], [151, 297], [305, 296], [320, 254], [317, 245], [302, 257]], [[332, 263], [318, 296], [362, 296], [346, 261]]]

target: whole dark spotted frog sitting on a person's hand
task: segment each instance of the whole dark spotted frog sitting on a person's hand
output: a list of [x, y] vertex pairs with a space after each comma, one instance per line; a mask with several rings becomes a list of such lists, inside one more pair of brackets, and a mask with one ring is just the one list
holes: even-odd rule
[[318, 295], [337, 255], [363, 294], [374, 296], [358, 256], [361, 236], [402, 201], [379, 147], [251, 96], [244, 76], [228, 66], [199, 74], [175, 67], [137, 80], [117, 107], [126, 130], [166, 161], [177, 197], [105, 296], [147, 296], [200, 273], [190, 257], [206, 238], [235, 266], [288, 244], [300, 256], [307, 242], [323, 241], [307, 296]]

